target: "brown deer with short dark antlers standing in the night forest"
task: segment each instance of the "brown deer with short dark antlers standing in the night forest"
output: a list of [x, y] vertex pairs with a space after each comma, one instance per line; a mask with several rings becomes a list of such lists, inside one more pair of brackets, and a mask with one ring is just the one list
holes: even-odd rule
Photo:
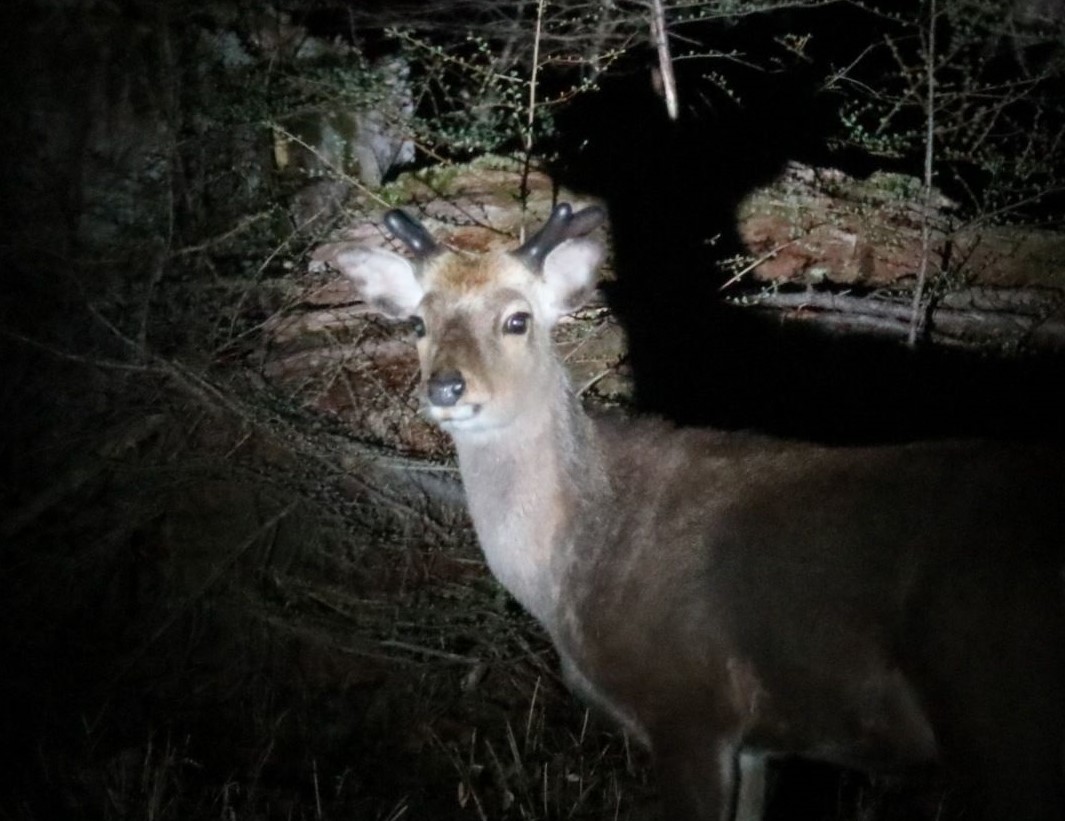
[[824, 445], [592, 416], [552, 332], [606, 217], [513, 250], [321, 257], [410, 321], [491, 573], [568, 686], [650, 748], [663, 817], [759, 818], [791, 756], [946, 785], [938, 817], [1065, 810], [1065, 470], [989, 441]]

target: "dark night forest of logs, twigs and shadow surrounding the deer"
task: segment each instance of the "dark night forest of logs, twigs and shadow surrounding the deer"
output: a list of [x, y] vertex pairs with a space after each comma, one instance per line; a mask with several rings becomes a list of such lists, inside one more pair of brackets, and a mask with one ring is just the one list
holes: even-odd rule
[[[16, 0], [0, 72], [0, 818], [653, 817], [315, 264], [387, 208], [603, 203], [589, 405], [1065, 434], [1061, 0]], [[784, 762], [769, 814], [935, 806]]]

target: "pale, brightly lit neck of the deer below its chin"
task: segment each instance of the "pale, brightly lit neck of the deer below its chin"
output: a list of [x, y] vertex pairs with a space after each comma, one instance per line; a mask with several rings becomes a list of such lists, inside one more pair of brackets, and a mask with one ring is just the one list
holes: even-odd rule
[[490, 436], [455, 438], [492, 574], [552, 630], [580, 511], [606, 492], [592, 421], [558, 366], [550, 401]]

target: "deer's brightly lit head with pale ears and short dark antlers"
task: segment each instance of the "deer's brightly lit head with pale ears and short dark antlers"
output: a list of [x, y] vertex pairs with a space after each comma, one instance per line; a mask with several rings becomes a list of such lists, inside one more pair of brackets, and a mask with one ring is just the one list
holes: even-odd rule
[[[599, 223], [581, 216], [589, 210], [574, 216], [568, 206], [559, 209], [563, 221], [583, 219], [584, 232]], [[390, 227], [421, 259], [351, 248], [332, 261], [380, 313], [412, 319], [430, 417], [465, 436], [506, 429], [536, 413], [558, 379], [552, 329], [594, 286], [601, 246], [557, 225], [561, 235], [544, 242], [548, 221], [514, 252], [460, 254], [442, 250], [421, 226], [394, 214]], [[415, 231], [413, 240], [405, 231]]]

